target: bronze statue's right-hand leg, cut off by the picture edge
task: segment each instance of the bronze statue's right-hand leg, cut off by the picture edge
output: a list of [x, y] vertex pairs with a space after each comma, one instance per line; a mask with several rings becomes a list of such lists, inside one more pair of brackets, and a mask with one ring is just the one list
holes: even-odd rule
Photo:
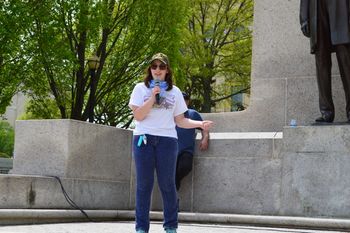
[[346, 100], [346, 116], [350, 121], [350, 44], [336, 46], [337, 60]]

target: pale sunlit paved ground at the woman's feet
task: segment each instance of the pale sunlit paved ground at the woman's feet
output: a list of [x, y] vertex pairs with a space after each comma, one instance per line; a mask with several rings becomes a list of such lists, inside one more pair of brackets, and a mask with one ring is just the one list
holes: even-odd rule
[[[1, 226], [1, 233], [134, 233], [133, 222], [60, 223], [42, 225]], [[181, 223], [178, 233], [339, 233], [324, 231], [254, 226], [227, 226]], [[350, 232], [350, 231], [349, 231]], [[160, 222], [152, 222], [150, 233], [164, 233]]]

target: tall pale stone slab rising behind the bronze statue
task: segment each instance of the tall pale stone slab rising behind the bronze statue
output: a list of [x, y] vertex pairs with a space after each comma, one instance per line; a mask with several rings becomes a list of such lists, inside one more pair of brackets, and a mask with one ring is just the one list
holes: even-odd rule
[[[254, 2], [251, 103], [242, 112], [211, 113], [217, 132], [282, 131], [291, 119], [319, 116], [315, 58], [299, 24], [299, 0]], [[335, 121], [346, 121], [344, 91], [333, 56]]]

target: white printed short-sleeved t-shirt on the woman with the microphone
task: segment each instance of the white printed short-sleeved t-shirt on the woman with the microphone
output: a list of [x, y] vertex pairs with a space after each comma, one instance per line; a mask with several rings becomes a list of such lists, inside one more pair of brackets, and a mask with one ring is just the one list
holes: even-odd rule
[[[138, 83], [132, 91], [129, 106], [140, 107], [152, 95], [152, 88], [147, 88], [144, 83]], [[161, 97], [160, 104], [154, 104], [151, 111], [142, 121], [135, 120], [134, 135], [151, 134], [177, 138], [175, 130], [175, 116], [187, 111], [185, 100], [180, 89], [173, 85], [170, 91], [166, 91]]]

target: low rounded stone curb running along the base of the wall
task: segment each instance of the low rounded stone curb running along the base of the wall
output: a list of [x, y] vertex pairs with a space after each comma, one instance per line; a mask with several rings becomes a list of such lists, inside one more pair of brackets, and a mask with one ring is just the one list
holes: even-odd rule
[[[134, 220], [131, 210], [85, 210], [94, 221]], [[151, 211], [151, 220], [163, 220], [163, 213]], [[78, 210], [0, 209], [0, 225], [28, 223], [82, 222], [87, 218]], [[305, 218], [293, 216], [240, 215], [217, 213], [179, 213], [180, 222], [250, 224], [310, 229], [350, 229], [349, 219]]]

